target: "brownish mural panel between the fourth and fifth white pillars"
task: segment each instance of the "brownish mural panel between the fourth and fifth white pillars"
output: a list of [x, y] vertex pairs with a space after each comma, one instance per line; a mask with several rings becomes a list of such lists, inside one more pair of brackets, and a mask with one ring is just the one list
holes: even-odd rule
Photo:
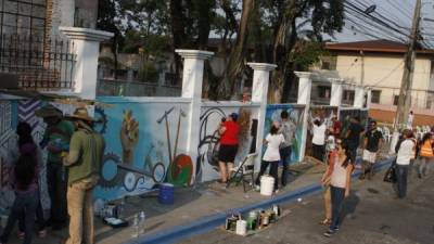
[[[306, 151], [305, 155], [311, 156], [311, 140], [312, 140], [312, 121], [316, 118], [319, 118], [322, 123], [326, 123], [327, 128], [330, 128], [332, 116], [337, 116], [337, 107], [336, 106], [318, 106], [311, 105], [309, 110], [309, 115], [307, 118], [307, 137], [306, 137]], [[342, 120], [341, 120], [342, 121]]]

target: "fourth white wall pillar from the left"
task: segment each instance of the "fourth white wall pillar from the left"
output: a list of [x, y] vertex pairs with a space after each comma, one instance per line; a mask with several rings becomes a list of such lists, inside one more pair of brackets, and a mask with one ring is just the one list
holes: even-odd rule
[[312, 74], [308, 72], [295, 72], [298, 76], [298, 97], [297, 104], [305, 105], [305, 113], [303, 113], [303, 130], [302, 130], [302, 144], [299, 147], [299, 158], [304, 160], [306, 151], [307, 139], [307, 118], [310, 110], [310, 92], [311, 92], [311, 77]]

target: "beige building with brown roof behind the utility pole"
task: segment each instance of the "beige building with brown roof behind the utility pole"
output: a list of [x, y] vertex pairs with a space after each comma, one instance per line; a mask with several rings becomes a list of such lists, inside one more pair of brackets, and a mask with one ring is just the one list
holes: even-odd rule
[[[376, 40], [328, 43], [331, 53], [322, 68], [334, 69], [341, 79], [372, 89], [372, 107], [397, 105], [407, 46]], [[412, 110], [434, 110], [434, 50], [418, 50], [411, 87]]]

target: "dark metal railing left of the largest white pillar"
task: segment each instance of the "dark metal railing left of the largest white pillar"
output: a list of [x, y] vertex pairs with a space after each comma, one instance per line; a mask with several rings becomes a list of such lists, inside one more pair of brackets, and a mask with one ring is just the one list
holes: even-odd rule
[[2, 35], [0, 73], [18, 77], [25, 90], [59, 90], [74, 86], [74, 43], [62, 39]]

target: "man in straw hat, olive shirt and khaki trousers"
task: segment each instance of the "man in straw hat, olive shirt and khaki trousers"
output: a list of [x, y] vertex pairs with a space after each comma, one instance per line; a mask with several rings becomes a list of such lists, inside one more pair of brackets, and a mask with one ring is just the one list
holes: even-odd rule
[[77, 130], [71, 139], [63, 164], [68, 168], [67, 203], [69, 237], [66, 244], [93, 244], [92, 191], [100, 176], [104, 138], [92, 129], [93, 118], [85, 107], [69, 116]]

